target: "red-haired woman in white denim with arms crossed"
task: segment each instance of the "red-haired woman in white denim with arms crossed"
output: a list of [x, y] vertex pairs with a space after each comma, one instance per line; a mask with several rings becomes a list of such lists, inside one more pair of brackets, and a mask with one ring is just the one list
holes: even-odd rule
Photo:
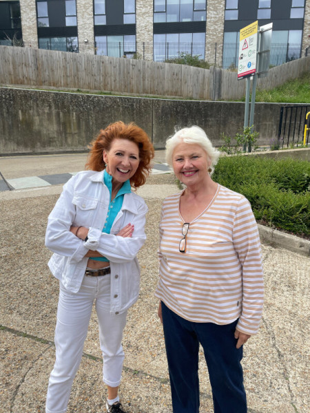
[[56, 361], [45, 411], [67, 410], [83, 354], [92, 306], [99, 321], [107, 412], [124, 413], [119, 401], [127, 310], [138, 299], [136, 255], [145, 242], [144, 200], [132, 191], [151, 169], [154, 148], [134, 123], [112, 123], [92, 141], [87, 171], [63, 187], [48, 218], [48, 263], [59, 279], [55, 330]]

